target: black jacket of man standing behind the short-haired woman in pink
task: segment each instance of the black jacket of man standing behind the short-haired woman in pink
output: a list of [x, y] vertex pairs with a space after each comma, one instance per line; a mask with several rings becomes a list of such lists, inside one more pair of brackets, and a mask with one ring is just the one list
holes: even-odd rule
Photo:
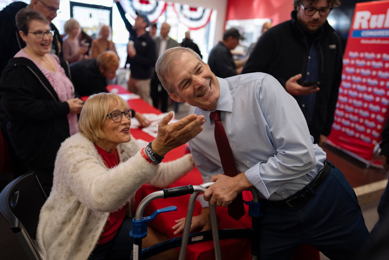
[[[26, 47], [26, 43], [23, 42], [19, 35], [15, 21], [16, 13], [26, 6], [27, 4], [24, 2], [14, 2], [0, 11], [0, 75], [7, 66], [9, 59], [13, 58], [18, 51]], [[60, 33], [54, 24], [50, 24], [50, 26], [51, 30], [54, 30], [52, 46], [55, 49], [55, 54], [63, 58]]]

